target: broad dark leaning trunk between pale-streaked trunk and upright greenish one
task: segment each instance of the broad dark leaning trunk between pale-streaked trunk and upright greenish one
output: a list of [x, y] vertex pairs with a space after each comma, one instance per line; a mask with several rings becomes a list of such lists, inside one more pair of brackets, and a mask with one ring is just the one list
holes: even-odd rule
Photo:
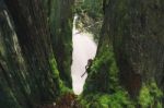
[[[17, 39], [32, 79], [34, 95], [39, 99], [49, 99], [58, 89], [58, 74], [54, 74], [55, 58], [50, 45], [50, 34], [46, 16], [39, 0], [14, 0], [5, 3], [13, 17]], [[19, 14], [17, 14], [19, 13]], [[55, 81], [55, 82], [54, 82]], [[37, 95], [39, 94], [39, 95]], [[48, 96], [48, 97], [47, 97]], [[50, 97], [49, 97], [50, 96]]]

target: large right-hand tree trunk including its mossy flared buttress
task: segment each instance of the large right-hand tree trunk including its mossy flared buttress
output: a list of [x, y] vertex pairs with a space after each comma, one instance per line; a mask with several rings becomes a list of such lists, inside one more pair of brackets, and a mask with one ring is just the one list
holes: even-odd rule
[[143, 86], [149, 93], [155, 84], [163, 91], [164, 2], [104, 0], [103, 5], [104, 23], [84, 95], [113, 94], [120, 87], [118, 81], [134, 99]]

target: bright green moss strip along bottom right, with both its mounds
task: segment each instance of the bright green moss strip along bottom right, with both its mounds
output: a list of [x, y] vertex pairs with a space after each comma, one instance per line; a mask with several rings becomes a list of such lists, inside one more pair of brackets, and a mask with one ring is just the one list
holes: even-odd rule
[[156, 83], [143, 84], [138, 100], [130, 99], [128, 93], [119, 87], [115, 93], [89, 93], [80, 97], [83, 108], [162, 108], [163, 93]]

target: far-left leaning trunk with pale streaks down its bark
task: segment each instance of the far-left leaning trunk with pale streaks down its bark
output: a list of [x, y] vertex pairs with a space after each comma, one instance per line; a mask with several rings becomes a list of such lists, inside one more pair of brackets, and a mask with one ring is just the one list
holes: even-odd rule
[[28, 75], [5, 7], [0, 10], [0, 107], [32, 106]]

